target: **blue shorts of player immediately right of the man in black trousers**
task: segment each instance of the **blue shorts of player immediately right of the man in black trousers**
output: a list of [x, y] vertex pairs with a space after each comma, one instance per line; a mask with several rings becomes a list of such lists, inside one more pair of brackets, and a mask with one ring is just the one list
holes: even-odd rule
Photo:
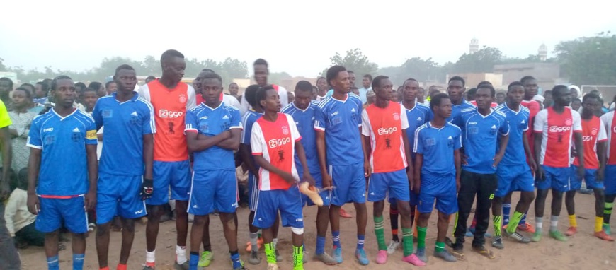
[[530, 166], [501, 165], [496, 168], [498, 187], [494, 196], [502, 198], [511, 192], [535, 192], [535, 178], [532, 177]]

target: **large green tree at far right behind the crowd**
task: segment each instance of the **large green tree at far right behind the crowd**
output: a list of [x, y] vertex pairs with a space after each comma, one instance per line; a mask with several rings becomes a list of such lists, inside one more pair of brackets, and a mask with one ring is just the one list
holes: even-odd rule
[[616, 85], [616, 35], [602, 32], [560, 42], [554, 52], [561, 76], [568, 76], [572, 83]]

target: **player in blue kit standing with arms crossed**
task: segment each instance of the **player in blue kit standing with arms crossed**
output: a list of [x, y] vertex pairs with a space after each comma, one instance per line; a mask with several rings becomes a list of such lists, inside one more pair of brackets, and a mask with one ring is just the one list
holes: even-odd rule
[[[244, 269], [237, 249], [235, 211], [237, 180], [233, 151], [239, 148], [239, 110], [222, 104], [222, 78], [205, 74], [201, 95], [205, 102], [186, 114], [186, 141], [195, 155], [188, 213], [195, 215], [190, 230], [190, 270], [197, 270], [205, 220], [217, 209], [229, 246], [233, 269]], [[208, 222], [209, 225], [209, 222]]]

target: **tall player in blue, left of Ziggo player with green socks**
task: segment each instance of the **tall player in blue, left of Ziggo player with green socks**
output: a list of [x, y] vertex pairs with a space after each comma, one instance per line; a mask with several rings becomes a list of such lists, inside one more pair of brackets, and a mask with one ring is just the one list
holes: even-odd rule
[[338, 264], [343, 262], [338, 212], [341, 206], [353, 202], [357, 212], [358, 237], [355, 257], [360, 264], [367, 265], [370, 261], [364, 250], [367, 222], [365, 177], [370, 177], [370, 166], [364, 164], [364, 155], [359, 147], [362, 103], [357, 95], [349, 94], [348, 73], [344, 66], [329, 68], [327, 81], [333, 87], [333, 95], [319, 103], [314, 129], [317, 131], [316, 149], [323, 186], [336, 187], [331, 191], [329, 208], [333, 259]]

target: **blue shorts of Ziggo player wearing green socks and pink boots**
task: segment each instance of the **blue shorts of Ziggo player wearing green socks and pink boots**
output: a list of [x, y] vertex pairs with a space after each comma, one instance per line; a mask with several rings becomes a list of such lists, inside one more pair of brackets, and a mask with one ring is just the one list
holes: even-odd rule
[[368, 201], [384, 201], [386, 196], [398, 201], [409, 201], [411, 196], [409, 178], [406, 170], [377, 172], [370, 175], [368, 182]]

